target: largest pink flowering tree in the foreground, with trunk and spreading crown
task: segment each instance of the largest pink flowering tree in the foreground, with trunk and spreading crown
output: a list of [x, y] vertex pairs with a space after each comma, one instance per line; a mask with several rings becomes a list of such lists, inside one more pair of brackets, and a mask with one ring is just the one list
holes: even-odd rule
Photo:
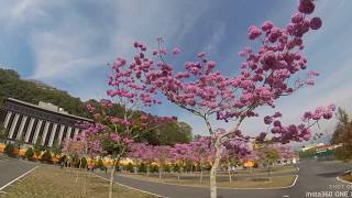
[[[250, 26], [249, 40], [260, 42], [260, 46], [244, 47], [240, 52], [244, 62], [240, 65], [240, 74], [234, 76], [217, 70], [217, 63], [205, 53], [199, 53], [196, 61], [186, 62], [185, 72], [179, 72], [166, 62], [168, 54], [163, 48], [162, 38], [158, 38], [158, 48], [152, 53], [152, 57], [146, 57], [144, 44], [134, 43], [138, 53], [125, 73], [131, 81], [139, 81], [140, 86], [151, 90], [143, 98], [153, 103], [156, 101], [152, 99], [152, 95], [156, 92], [164, 95], [170, 102], [204, 120], [212, 138], [215, 160], [210, 170], [211, 198], [217, 197], [216, 170], [220, 163], [223, 142], [305, 141], [310, 136], [311, 125], [320, 119], [329, 119], [332, 114], [334, 108], [330, 106], [318, 109], [314, 114], [305, 116], [300, 124], [276, 124], [271, 130], [272, 134], [263, 132], [258, 136], [251, 138], [242, 135], [240, 131], [243, 120], [260, 116], [258, 107], [275, 108], [279, 99], [314, 85], [314, 79], [319, 74], [306, 72], [308, 62], [302, 54], [304, 35], [321, 26], [319, 18], [309, 16], [314, 10], [312, 0], [300, 0], [298, 12], [285, 28], [276, 26], [270, 21], [260, 28]], [[175, 48], [170, 55], [177, 56], [179, 53], [180, 50]], [[125, 64], [124, 59], [119, 59], [119, 66]], [[124, 73], [120, 76], [124, 76]], [[125, 91], [122, 91], [123, 95], [127, 95]], [[280, 118], [279, 112], [265, 117], [264, 121], [272, 124], [271, 120], [278, 118]], [[210, 122], [212, 119], [231, 122], [232, 129], [217, 133]]]

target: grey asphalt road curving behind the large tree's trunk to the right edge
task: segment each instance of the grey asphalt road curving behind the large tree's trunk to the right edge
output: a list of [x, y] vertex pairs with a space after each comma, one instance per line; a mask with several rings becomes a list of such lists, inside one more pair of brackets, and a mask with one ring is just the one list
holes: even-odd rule
[[[326, 197], [343, 197], [337, 193], [352, 190], [352, 185], [336, 179], [341, 173], [352, 169], [352, 164], [339, 162], [317, 162], [315, 160], [304, 161], [299, 165], [299, 177], [292, 188], [285, 189], [219, 189], [221, 198], [305, 198], [319, 197], [314, 193], [328, 191]], [[109, 177], [106, 174], [99, 174]], [[141, 190], [157, 194], [170, 198], [207, 198], [209, 189], [201, 187], [186, 187], [169, 184], [143, 182], [123, 176], [117, 176], [116, 182]], [[340, 185], [340, 186], [334, 186]], [[309, 194], [312, 193], [312, 194]], [[331, 196], [330, 196], [331, 193]], [[321, 196], [320, 196], [321, 197]], [[345, 196], [344, 196], [345, 197]], [[350, 193], [348, 197], [352, 197]]]

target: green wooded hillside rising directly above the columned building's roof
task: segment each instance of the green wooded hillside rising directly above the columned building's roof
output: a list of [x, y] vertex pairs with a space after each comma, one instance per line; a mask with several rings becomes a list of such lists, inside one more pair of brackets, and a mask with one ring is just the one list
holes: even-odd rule
[[38, 101], [54, 103], [72, 114], [89, 118], [86, 105], [66, 91], [37, 80], [24, 80], [12, 69], [0, 69], [0, 99], [15, 98], [33, 105]]

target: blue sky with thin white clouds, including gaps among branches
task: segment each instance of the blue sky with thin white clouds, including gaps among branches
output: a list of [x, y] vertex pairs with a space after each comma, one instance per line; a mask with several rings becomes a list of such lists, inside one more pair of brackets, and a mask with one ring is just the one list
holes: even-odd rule
[[[250, 25], [265, 20], [285, 25], [298, 0], [2, 0], [0, 2], [0, 65], [67, 90], [81, 99], [103, 98], [107, 66], [118, 56], [131, 57], [132, 43], [156, 46], [162, 35], [170, 48], [183, 50], [179, 61], [206, 52], [228, 74], [235, 74], [238, 52], [251, 43]], [[309, 68], [321, 72], [317, 85], [277, 103], [285, 122], [298, 122], [307, 109], [330, 102], [352, 112], [351, 0], [317, 0], [321, 30], [306, 37]], [[167, 102], [150, 111], [178, 116], [194, 133], [206, 134], [204, 123]], [[261, 109], [263, 114], [272, 109]], [[331, 131], [334, 122], [322, 124]], [[223, 123], [216, 123], [223, 127]], [[230, 125], [226, 125], [229, 128]], [[262, 118], [244, 123], [244, 131], [264, 130]]]

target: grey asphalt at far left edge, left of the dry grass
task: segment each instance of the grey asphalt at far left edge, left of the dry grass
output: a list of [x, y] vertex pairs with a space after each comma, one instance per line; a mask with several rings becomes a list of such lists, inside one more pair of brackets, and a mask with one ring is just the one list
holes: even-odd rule
[[15, 158], [0, 158], [0, 189], [35, 166], [34, 163], [28, 163]]

